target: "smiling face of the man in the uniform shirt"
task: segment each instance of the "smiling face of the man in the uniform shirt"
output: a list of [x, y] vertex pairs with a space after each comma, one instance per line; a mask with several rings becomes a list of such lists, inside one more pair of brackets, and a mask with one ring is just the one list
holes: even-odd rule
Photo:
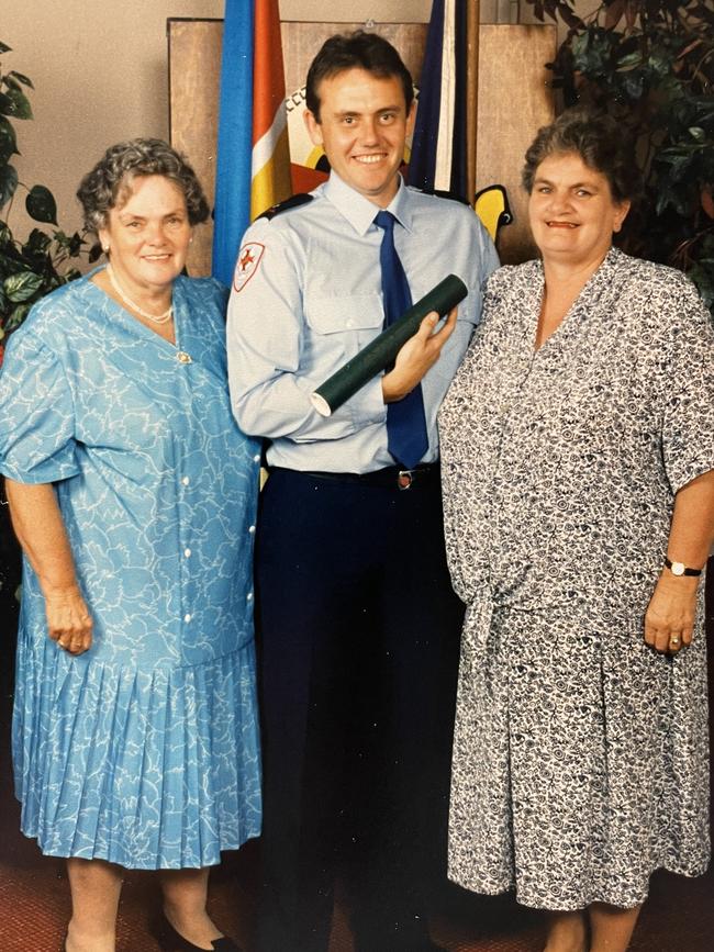
[[347, 69], [317, 87], [320, 122], [305, 113], [308, 132], [331, 167], [355, 191], [381, 209], [397, 194], [404, 143], [414, 124], [399, 77]]

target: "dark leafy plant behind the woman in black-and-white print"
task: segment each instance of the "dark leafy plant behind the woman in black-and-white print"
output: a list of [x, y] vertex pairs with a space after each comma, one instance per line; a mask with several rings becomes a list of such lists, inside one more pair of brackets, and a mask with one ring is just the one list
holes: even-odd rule
[[591, 104], [634, 135], [645, 201], [624, 242], [687, 271], [714, 310], [714, 10], [707, 0], [527, 0], [568, 33], [548, 64], [564, 105]]

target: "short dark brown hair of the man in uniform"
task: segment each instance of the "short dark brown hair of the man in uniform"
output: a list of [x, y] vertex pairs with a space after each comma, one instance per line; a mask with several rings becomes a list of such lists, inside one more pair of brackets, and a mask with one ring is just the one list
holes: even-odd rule
[[398, 77], [404, 90], [404, 104], [409, 113], [414, 98], [414, 87], [409, 69], [391, 43], [378, 33], [356, 30], [339, 33], [326, 40], [312, 60], [305, 83], [305, 103], [320, 122], [320, 97], [317, 89], [323, 79], [331, 79], [348, 69], [364, 69], [380, 79]]

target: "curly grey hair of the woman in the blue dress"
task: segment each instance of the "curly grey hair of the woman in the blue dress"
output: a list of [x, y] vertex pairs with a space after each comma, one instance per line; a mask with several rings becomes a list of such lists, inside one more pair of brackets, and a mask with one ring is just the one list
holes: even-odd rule
[[186, 199], [191, 225], [208, 219], [203, 189], [183, 156], [160, 138], [133, 138], [110, 146], [79, 183], [77, 198], [88, 231], [98, 232], [107, 226], [109, 212], [129, 199], [132, 182], [138, 176], [164, 176], [177, 186]]

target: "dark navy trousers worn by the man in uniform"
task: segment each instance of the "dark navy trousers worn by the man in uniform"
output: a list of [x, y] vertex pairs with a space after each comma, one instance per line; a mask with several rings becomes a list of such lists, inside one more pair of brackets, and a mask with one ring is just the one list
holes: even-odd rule
[[462, 620], [438, 480], [276, 470], [261, 495], [261, 952], [325, 952], [335, 878], [359, 952], [416, 952], [445, 883]]

